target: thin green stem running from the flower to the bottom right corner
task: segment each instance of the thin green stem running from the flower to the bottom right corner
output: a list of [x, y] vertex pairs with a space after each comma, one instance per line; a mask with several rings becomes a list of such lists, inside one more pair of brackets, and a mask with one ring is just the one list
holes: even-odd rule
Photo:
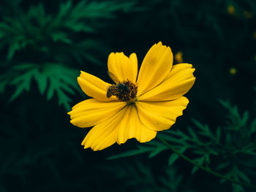
[[232, 183], [236, 183], [236, 184], [242, 185], [242, 186], [244, 186], [244, 187], [256, 189], [256, 186], [255, 186], [255, 185], [250, 185], [250, 184], [248, 184], [248, 183], [242, 183], [242, 182], [239, 182], [239, 181], [237, 181], [237, 180], [233, 180], [233, 179], [231, 179], [230, 177], [225, 177], [223, 174], [219, 174], [218, 172], [211, 171], [211, 169], [208, 169], [206, 166], [202, 166], [202, 165], [200, 165], [200, 164], [195, 163], [194, 161], [192, 161], [192, 159], [188, 158], [187, 156], [183, 155], [182, 153], [179, 153], [179, 152], [178, 152], [176, 149], [174, 149], [169, 143], [167, 143], [167, 142], [165, 141], [165, 139], [162, 139], [162, 137], [159, 137], [159, 136], [157, 135], [157, 139], [159, 139], [163, 144], [166, 145], [166, 147], [168, 147], [170, 150], [172, 150], [172, 151], [173, 151], [174, 153], [176, 153], [178, 156], [180, 156], [181, 158], [183, 158], [183, 159], [186, 160], [186, 161], [189, 161], [190, 164], [193, 164], [193, 165], [199, 167], [200, 169], [203, 169], [205, 172], [208, 172], [208, 173], [213, 174], [213, 175], [215, 175], [215, 176], [217, 176], [217, 177], [220, 177], [220, 178], [222, 178], [223, 180], [228, 180], [228, 181], [230, 181], [230, 182], [232, 182]]

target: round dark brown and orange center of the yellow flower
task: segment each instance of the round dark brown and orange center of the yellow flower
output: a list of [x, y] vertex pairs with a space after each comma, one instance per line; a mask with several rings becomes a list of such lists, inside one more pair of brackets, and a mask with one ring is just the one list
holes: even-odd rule
[[135, 98], [138, 91], [138, 85], [129, 80], [116, 84], [116, 93], [113, 94], [119, 101], [125, 101], [127, 104], [135, 103]]

